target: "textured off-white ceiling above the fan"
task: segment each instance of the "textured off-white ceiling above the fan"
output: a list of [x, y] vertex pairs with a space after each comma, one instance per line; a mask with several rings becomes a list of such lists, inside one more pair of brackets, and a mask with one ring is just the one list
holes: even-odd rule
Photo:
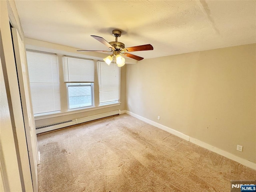
[[108, 50], [90, 37], [126, 47], [152, 44], [132, 52], [155, 58], [256, 43], [256, 1], [248, 0], [16, 0], [25, 37], [84, 50]]

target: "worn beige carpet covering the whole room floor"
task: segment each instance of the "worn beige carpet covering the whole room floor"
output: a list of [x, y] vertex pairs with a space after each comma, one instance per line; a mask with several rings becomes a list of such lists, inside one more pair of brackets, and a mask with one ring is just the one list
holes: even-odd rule
[[39, 192], [230, 192], [256, 171], [127, 114], [38, 135]]

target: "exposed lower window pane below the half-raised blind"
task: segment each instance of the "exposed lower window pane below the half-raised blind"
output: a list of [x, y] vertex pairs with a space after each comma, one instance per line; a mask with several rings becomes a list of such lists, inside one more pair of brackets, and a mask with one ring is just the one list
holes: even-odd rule
[[92, 106], [92, 86], [88, 85], [68, 85], [69, 108], [81, 108]]

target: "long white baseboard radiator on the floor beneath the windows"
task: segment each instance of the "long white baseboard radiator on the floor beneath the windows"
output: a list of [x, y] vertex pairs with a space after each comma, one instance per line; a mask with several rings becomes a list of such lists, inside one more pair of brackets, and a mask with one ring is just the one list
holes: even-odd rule
[[115, 110], [115, 111], [101, 113], [101, 114], [92, 115], [92, 116], [86, 116], [83, 118], [54, 123], [51, 125], [41, 126], [41, 127], [36, 128], [36, 134], [47, 132], [47, 131], [52, 131], [55, 129], [64, 128], [67, 126], [76, 125], [76, 124], [80, 124], [80, 123], [84, 123], [84, 122], [88, 122], [88, 121], [92, 121], [92, 120], [96, 120], [96, 119], [100, 119], [100, 118], [104, 118], [104, 117], [118, 115], [118, 114], [119, 115], [121, 114], [120, 110]]

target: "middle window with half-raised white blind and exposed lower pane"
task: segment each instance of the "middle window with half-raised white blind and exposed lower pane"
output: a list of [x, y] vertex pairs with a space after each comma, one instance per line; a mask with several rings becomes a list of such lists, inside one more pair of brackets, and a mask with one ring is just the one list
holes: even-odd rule
[[64, 80], [68, 93], [68, 109], [93, 106], [94, 62], [64, 56]]

